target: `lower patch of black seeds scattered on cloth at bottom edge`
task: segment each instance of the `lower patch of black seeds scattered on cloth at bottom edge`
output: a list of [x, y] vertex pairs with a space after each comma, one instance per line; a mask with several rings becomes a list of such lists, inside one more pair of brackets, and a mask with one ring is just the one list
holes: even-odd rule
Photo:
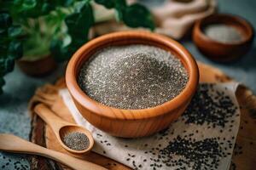
[[[221, 156], [225, 156], [217, 139], [192, 142], [180, 136], [170, 141], [166, 148], [160, 150], [159, 154], [160, 158], [165, 156], [161, 162], [167, 167], [179, 166], [181, 169], [186, 168], [186, 166], [192, 167], [192, 169], [211, 169], [218, 166]], [[158, 160], [155, 161], [159, 162]], [[155, 166], [161, 167], [162, 165], [156, 163]]]

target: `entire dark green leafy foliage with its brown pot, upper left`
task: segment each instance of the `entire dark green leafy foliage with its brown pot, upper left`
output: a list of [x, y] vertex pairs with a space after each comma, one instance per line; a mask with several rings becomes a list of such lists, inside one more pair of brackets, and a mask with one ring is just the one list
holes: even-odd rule
[[125, 0], [0, 0], [0, 93], [15, 60], [27, 74], [42, 75], [87, 42], [96, 23], [92, 3], [113, 8], [126, 26], [154, 30], [148, 9]]

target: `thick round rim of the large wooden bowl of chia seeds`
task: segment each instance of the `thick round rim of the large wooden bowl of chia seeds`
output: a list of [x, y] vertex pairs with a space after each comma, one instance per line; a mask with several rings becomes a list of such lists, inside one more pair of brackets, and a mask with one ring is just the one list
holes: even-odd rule
[[[90, 99], [89, 96], [84, 94], [81, 88], [79, 88], [79, 84], [77, 82], [77, 65], [78, 62], [83, 58], [84, 51], [91, 51], [92, 48], [96, 48], [102, 44], [108, 44], [111, 42], [117, 42], [132, 38], [140, 38], [146, 41], [154, 41], [159, 42], [160, 44], [166, 45], [166, 47], [170, 48], [170, 51], [175, 51], [179, 54], [179, 58], [183, 58], [183, 61], [186, 63], [188, 67], [189, 73], [189, 81], [187, 82], [186, 87], [183, 91], [178, 94], [174, 99], [167, 101], [162, 105], [157, 105], [148, 109], [140, 109], [140, 110], [124, 110], [118, 109], [114, 107], [110, 107], [107, 105], [102, 105], [94, 99]], [[88, 54], [89, 52], [87, 52]], [[90, 57], [89, 57], [90, 58]], [[73, 54], [72, 59], [70, 59], [67, 65], [66, 71], [66, 83], [67, 88], [70, 94], [73, 96], [76, 102], [79, 105], [82, 105], [89, 111], [92, 111], [99, 116], [105, 116], [108, 118], [121, 119], [121, 120], [140, 120], [153, 118], [155, 116], [164, 115], [170, 111], [173, 111], [180, 107], [181, 105], [186, 105], [189, 102], [189, 99], [195, 94], [197, 85], [199, 82], [199, 69], [195, 62], [195, 59], [189, 53], [186, 48], [172, 40], [171, 38], [161, 36], [159, 34], [151, 33], [148, 31], [119, 31], [114, 33], [109, 33], [101, 37], [97, 37], [90, 42], [85, 43], [79, 50]]]

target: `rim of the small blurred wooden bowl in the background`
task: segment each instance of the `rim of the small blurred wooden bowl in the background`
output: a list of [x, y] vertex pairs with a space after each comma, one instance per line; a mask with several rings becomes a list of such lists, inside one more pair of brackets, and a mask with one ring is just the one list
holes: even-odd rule
[[[244, 37], [244, 39], [242, 39], [239, 42], [218, 42], [216, 40], [213, 40], [211, 37], [208, 37], [204, 31], [201, 30], [202, 25], [207, 22], [207, 20], [217, 20], [220, 18], [230, 18], [230, 22], [233, 23], [238, 23], [239, 25], [242, 25], [244, 27], [246, 27], [246, 29], [249, 31], [249, 33]], [[223, 23], [223, 22], [220, 22]], [[207, 43], [214, 43], [214, 44], [218, 44], [220, 46], [223, 47], [232, 47], [232, 46], [240, 46], [243, 45], [249, 41], [251, 41], [251, 39], [253, 38], [253, 26], [244, 18], [242, 18], [241, 16], [235, 15], [235, 14], [212, 14], [210, 16], [207, 16], [206, 18], [203, 18], [201, 20], [197, 20], [195, 22], [195, 27], [194, 27], [194, 31], [197, 32], [198, 36], [205, 42]]]

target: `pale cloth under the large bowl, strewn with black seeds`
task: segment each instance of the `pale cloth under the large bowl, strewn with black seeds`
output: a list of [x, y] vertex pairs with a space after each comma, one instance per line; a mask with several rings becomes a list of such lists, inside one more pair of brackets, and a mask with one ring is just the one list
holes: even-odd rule
[[74, 120], [94, 136], [93, 150], [134, 169], [229, 169], [240, 123], [237, 83], [201, 84], [188, 109], [152, 136], [122, 139], [93, 127], [67, 89], [60, 95]]

